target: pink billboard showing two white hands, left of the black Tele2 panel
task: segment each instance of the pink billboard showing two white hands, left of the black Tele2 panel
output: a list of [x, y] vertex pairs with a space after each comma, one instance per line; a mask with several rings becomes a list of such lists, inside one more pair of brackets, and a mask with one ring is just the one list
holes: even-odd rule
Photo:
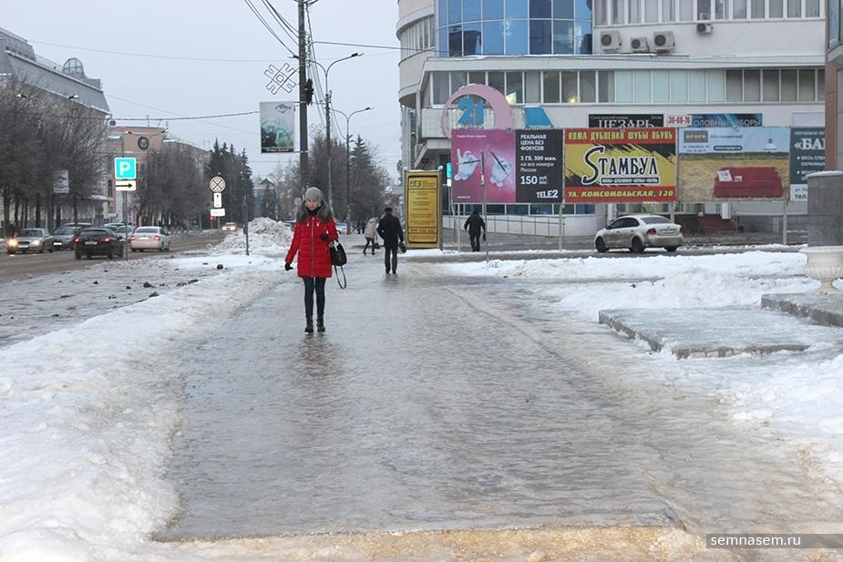
[[[515, 131], [454, 129], [451, 133], [454, 202], [515, 203]], [[483, 185], [485, 179], [485, 187]]]

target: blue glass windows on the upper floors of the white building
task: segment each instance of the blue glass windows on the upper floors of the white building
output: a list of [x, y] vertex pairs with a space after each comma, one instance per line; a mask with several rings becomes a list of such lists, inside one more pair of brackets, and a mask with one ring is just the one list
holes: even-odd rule
[[437, 0], [437, 56], [590, 55], [591, 0]]

